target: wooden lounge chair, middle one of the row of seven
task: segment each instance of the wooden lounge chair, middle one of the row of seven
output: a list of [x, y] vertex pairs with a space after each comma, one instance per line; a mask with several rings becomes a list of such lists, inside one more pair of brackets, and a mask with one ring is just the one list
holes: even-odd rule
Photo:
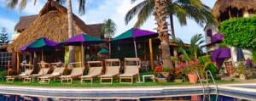
[[67, 81], [70, 84], [72, 83], [74, 78], [78, 78], [79, 76], [83, 76], [84, 68], [73, 68], [70, 75], [67, 76], [61, 76], [61, 83], [63, 81]]

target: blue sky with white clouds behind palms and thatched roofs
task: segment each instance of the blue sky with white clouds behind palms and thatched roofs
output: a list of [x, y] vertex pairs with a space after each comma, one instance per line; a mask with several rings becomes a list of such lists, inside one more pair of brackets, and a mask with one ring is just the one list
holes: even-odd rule
[[[139, 3], [142, 0], [138, 0]], [[203, 3], [207, 4], [212, 8], [216, 0], [202, 0]], [[38, 0], [36, 5], [33, 4], [33, 0], [28, 0], [26, 8], [19, 11], [19, 8], [9, 9], [6, 8], [5, 0], [0, 1], [0, 28], [6, 27], [9, 33], [14, 33], [15, 25], [18, 23], [20, 16], [38, 14], [41, 8], [43, 8], [46, 0]], [[125, 13], [137, 3], [131, 3], [131, 0], [87, 0], [86, 13], [84, 15], [78, 14], [77, 1], [73, 0], [73, 13], [77, 14], [80, 19], [84, 20], [86, 24], [102, 23], [104, 20], [110, 18], [117, 25], [117, 32], [115, 36], [130, 29], [135, 20], [131, 20], [128, 25], [125, 25]], [[188, 25], [180, 26], [177, 19], [174, 19], [174, 27], [177, 37], [183, 39], [184, 42], [189, 42], [191, 36], [197, 33], [204, 33], [203, 27], [197, 25], [193, 20], [188, 21]], [[156, 27], [154, 17], [151, 16], [149, 20], [141, 27], [141, 29], [155, 31]]]

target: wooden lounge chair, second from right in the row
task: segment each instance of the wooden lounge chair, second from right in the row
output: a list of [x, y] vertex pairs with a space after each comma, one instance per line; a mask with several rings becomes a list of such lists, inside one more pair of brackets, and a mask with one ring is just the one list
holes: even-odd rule
[[[119, 76], [121, 67], [120, 59], [105, 59], [106, 71], [100, 76], [101, 83], [113, 83], [113, 76]], [[110, 82], [102, 82], [102, 80], [110, 80]]]

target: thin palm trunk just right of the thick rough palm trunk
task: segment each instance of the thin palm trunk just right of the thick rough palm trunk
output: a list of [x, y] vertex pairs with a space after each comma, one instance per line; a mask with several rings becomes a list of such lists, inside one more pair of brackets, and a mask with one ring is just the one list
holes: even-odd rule
[[[166, 0], [167, 6], [172, 5], [172, 0]], [[175, 36], [175, 31], [174, 31], [174, 24], [173, 24], [173, 14], [172, 12], [168, 12], [169, 14], [169, 20], [170, 20], [170, 26], [171, 26], [171, 31], [172, 31], [172, 40], [176, 41], [176, 36]], [[177, 57], [177, 48], [173, 48], [173, 56]], [[175, 61], [175, 67], [177, 67], [177, 61]]]

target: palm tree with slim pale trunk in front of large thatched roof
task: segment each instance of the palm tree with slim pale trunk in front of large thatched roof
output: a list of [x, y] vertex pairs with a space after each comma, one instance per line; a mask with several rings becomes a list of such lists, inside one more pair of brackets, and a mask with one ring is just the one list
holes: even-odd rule
[[[57, 3], [66, 3], [66, 0], [48, 0], [48, 3], [50, 2], [57, 2]], [[8, 8], [15, 8], [16, 5], [18, 5], [19, 0], [7, 0], [7, 7]], [[34, 1], [34, 4], [37, 2], [37, 0]], [[85, 2], [86, 0], [79, 0], [79, 14], [85, 13]], [[21, 0], [19, 3], [19, 9], [20, 11], [24, 8], [26, 8], [27, 0]], [[71, 0], [67, 0], [67, 16], [68, 16], [68, 38], [73, 37], [73, 13], [72, 13], [72, 3]], [[69, 63], [74, 62], [74, 48], [73, 46], [69, 47]]]

